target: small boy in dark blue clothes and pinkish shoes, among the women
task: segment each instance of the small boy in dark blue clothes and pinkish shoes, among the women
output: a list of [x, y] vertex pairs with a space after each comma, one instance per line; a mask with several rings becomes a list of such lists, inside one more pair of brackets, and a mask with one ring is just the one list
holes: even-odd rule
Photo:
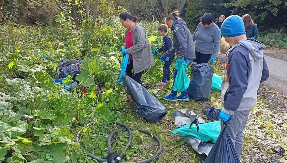
[[[160, 52], [165, 53], [170, 48], [173, 47], [173, 41], [167, 34], [167, 26], [166, 24], [161, 24], [160, 27], [157, 28], [157, 31], [160, 33], [160, 36], [163, 36], [163, 46], [158, 50], [153, 50], [153, 54], [157, 54]], [[176, 56], [175, 53], [171, 57], [167, 57], [166, 61], [163, 64], [163, 79], [161, 82], [156, 83], [156, 86], [164, 87], [166, 83], [171, 83], [170, 81], [170, 70], [169, 67], [173, 62], [174, 57]]]

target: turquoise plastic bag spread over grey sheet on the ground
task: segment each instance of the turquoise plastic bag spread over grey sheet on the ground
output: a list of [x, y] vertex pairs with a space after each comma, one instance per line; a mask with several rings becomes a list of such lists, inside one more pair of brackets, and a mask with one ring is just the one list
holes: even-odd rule
[[197, 132], [197, 127], [195, 124], [189, 128], [190, 123], [182, 126], [179, 129], [174, 129], [171, 131], [171, 133], [179, 133], [181, 134], [182, 137], [185, 136], [193, 136], [196, 139], [201, 140], [202, 142], [208, 142], [211, 141], [213, 143], [216, 142], [220, 130], [221, 130], [221, 125], [220, 121], [214, 121], [214, 122], [208, 122], [208, 123], [203, 123], [203, 124], [198, 124], [199, 130]]

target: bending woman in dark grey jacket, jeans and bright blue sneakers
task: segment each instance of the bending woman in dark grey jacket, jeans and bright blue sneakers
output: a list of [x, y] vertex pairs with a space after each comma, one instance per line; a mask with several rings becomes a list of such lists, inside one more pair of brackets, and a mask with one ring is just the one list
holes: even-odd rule
[[[193, 47], [192, 35], [186, 26], [186, 23], [178, 17], [179, 12], [177, 10], [169, 14], [165, 22], [167, 26], [173, 31], [173, 47], [164, 53], [160, 60], [165, 60], [167, 57], [171, 57], [174, 53], [177, 55], [176, 62], [185, 62], [187, 66], [195, 59], [195, 50]], [[177, 70], [173, 73], [173, 85], [176, 78]], [[177, 96], [177, 91], [172, 90], [167, 96], [163, 96], [163, 99], [167, 101], [189, 101], [187, 90], [181, 92]]]

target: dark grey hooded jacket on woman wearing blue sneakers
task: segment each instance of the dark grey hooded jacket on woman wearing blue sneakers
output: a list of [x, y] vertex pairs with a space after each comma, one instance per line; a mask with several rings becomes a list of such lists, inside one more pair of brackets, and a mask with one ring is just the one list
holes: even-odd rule
[[178, 18], [171, 30], [173, 31], [173, 47], [163, 54], [163, 58], [171, 57], [176, 53], [177, 59], [195, 59], [192, 35], [186, 23], [181, 18]]

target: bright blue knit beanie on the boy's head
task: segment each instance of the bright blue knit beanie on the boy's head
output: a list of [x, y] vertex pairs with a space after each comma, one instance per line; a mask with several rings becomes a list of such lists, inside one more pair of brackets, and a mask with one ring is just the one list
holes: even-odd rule
[[231, 15], [226, 18], [220, 30], [223, 37], [236, 37], [245, 34], [243, 20], [238, 15]]

